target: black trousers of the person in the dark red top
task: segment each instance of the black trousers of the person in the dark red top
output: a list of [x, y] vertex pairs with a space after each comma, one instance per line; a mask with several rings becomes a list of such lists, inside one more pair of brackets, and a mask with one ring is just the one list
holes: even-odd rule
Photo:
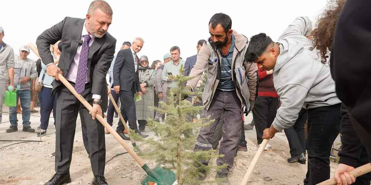
[[263, 142], [263, 131], [275, 120], [279, 99], [275, 97], [258, 96], [255, 99], [253, 117], [255, 122], [257, 144]]

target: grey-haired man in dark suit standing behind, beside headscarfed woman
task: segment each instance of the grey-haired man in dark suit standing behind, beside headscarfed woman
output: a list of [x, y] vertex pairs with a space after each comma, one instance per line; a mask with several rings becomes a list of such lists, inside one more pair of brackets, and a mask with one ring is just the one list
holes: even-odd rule
[[[148, 137], [138, 131], [137, 115], [135, 112], [134, 94], [142, 95], [141, 85], [139, 83], [138, 65], [139, 60], [137, 53], [142, 49], [144, 40], [140, 37], [134, 39], [131, 47], [125, 50], [120, 50], [116, 56], [114, 64], [114, 90], [120, 93], [121, 110], [124, 110], [129, 120], [129, 127], [135, 133], [143, 138]], [[121, 120], [118, 123], [120, 128], [123, 128]], [[122, 130], [116, 129], [120, 133]]]

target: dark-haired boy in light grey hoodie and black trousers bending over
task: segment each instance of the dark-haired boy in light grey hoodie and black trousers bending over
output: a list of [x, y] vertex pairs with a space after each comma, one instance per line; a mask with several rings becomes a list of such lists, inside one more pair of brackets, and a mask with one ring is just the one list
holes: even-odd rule
[[314, 185], [330, 178], [332, 143], [340, 131], [340, 100], [329, 63], [321, 61], [317, 50], [311, 50], [308, 36], [312, 22], [298, 17], [283, 32], [278, 42], [264, 33], [253, 36], [246, 60], [265, 70], [273, 69], [273, 82], [281, 107], [263, 139], [290, 128], [298, 119], [301, 108], [308, 109], [308, 171], [304, 185]]

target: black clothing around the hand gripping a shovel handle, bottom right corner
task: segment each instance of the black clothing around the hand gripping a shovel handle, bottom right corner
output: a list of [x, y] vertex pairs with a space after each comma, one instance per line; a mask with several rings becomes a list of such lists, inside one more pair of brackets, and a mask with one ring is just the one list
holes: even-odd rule
[[[341, 152], [339, 152], [339, 163], [358, 168], [359, 166], [369, 163], [367, 150], [362, 145], [361, 140], [359, 139], [358, 134], [351, 122], [351, 117], [344, 105], [341, 106], [341, 113], [342, 148]], [[357, 177], [353, 185], [370, 185], [370, 182], [371, 173], [367, 173]]]

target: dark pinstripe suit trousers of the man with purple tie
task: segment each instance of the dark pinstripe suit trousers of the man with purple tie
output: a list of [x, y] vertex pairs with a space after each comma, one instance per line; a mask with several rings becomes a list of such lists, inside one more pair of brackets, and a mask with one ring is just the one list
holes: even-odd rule
[[[85, 90], [81, 95], [92, 104], [90, 83], [85, 84]], [[92, 119], [89, 110], [64, 85], [60, 85], [57, 97], [55, 171], [58, 174], [69, 172], [78, 113], [81, 117], [82, 134], [85, 135], [83, 141], [89, 151], [93, 174], [104, 175], [106, 159], [104, 127], [97, 119]]]

